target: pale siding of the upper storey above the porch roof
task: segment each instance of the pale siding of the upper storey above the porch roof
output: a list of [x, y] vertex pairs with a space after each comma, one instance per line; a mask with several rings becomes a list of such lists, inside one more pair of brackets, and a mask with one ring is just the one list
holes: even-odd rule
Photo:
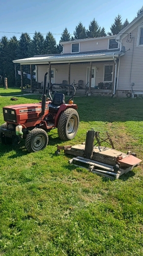
[[[110, 38], [111, 39], [111, 38]], [[76, 43], [76, 41], [70, 41], [64, 45], [64, 54], [71, 53], [71, 44]], [[78, 43], [78, 41], [77, 41]], [[94, 40], [80, 41], [80, 52], [87, 51], [98, 51], [108, 49], [108, 38], [95, 38]]]

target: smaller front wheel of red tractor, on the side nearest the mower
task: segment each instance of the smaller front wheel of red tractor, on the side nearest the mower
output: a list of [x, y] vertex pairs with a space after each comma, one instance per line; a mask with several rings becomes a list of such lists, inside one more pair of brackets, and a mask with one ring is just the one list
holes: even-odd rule
[[33, 129], [26, 136], [25, 148], [28, 152], [43, 150], [48, 144], [48, 135], [43, 129]]

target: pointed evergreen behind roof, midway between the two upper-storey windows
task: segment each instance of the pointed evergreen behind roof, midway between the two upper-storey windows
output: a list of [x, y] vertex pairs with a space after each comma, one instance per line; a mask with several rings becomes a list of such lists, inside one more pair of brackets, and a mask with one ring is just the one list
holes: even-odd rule
[[99, 34], [100, 34], [100, 27], [94, 18], [89, 25], [89, 30], [87, 30], [87, 37], [94, 38], [94, 37], [98, 37]]

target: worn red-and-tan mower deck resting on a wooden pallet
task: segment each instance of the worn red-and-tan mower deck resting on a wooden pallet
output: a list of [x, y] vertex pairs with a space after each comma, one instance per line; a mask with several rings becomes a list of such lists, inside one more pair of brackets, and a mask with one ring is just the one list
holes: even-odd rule
[[[90, 172], [111, 179], [119, 179], [121, 175], [128, 173], [141, 162], [131, 151], [125, 154], [115, 150], [108, 132], [104, 139], [99, 134], [100, 132], [88, 131], [85, 142], [73, 146], [58, 145], [55, 154], [59, 155], [60, 151], [64, 150], [65, 154], [74, 156], [69, 160], [70, 164], [76, 166], [80, 164], [82, 168], [86, 165]], [[111, 147], [102, 146], [103, 142]]]

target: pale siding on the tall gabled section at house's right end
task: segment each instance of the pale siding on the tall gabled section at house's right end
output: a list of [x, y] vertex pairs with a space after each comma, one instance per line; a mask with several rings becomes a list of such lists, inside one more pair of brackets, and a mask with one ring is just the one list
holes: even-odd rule
[[134, 82], [133, 90], [143, 91], [143, 47], [136, 46], [137, 31], [138, 27], [132, 31], [131, 42], [127, 42], [127, 36], [122, 40], [122, 46], [130, 51], [120, 59], [118, 90], [131, 90], [130, 84]]

